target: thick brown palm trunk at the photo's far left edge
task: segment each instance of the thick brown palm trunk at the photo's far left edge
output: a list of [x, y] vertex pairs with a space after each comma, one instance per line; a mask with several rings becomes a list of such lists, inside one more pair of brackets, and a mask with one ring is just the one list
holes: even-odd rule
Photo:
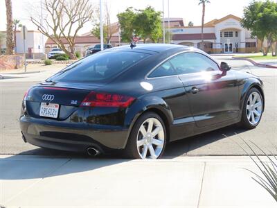
[[12, 42], [12, 0], [6, 1], [6, 17], [7, 17], [7, 32], [6, 32], [6, 54], [12, 55], [13, 42]]

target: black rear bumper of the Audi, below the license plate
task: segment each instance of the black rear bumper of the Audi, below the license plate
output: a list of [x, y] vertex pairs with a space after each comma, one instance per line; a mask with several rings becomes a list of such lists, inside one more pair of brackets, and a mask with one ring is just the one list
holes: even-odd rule
[[[97, 125], [90, 128], [80, 125], [55, 125], [51, 121], [41, 121], [29, 116], [21, 116], [20, 128], [25, 142], [44, 148], [86, 152], [93, 147], [102, 153], [125, 148], [128, 130], [111, 125]], [[62, 123], [65, 124], [66, 123]]]

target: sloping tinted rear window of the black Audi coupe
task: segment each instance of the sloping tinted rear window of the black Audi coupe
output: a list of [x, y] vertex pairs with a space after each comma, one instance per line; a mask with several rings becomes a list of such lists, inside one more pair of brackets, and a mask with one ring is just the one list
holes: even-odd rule
[[148, 56], [148, 53], [133, 51], [96, 53], [71, 64], [48, 80], [76, 83], [104, 81], [117, 76], [118, 73], [125, 71]]

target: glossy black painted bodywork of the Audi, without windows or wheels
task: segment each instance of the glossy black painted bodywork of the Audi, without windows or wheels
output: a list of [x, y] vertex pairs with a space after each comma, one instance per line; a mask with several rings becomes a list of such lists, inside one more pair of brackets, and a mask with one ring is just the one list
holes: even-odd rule
[[[147, 78], [154, 67], [177, 53], [196, 51], [207, 55], [197, 49], [147, 44], [134, 49], [123, 46], [106, 51], [117, 50], [134, 50], [151, 55], [106, 83], [44, 82], [35, 85], [28, 92], [26, 112], [21, 110], [20, 125], [24, 139], [30, 144], [47, 148], [84, 152], [89, 146], [94, 146], [102, 152], [108, 152], [125, 148], [136, 119], [147, 111], [161, 116], [166, 123], [167, 138], [175, 141], [238, 123], [245, 96], [251, 87], [257, 87], [265, 101], [262, 81], [242, 71], [231, 70], [226, 74], [213, 71], [208, 80], [199, 74]], [[153, 89], [144, 89], [141, 82], [150, 83]], [[44, 90], [42, 87], [64, 87], [68, 89], [66, 92], [70, 92], [50, 91], [60, 96], [60, 100], [55, 101], [61, 105], [58, 119], [42, 118], [38, 112], [34, 112], [35, 109], [39, 110], [42, 102], [39, 97], [50, 93], [49, 89]], [[197, 94], [191, 91], [193, 87], [199, 89]], [[126, 109], [78, 107], [85, 94], [91, 90], [133, 96], [136, 100]], [[69, 103], [73, 97], [78, 101], [77, 104]], [[30, 105], [36, 107], [31, 108]]]

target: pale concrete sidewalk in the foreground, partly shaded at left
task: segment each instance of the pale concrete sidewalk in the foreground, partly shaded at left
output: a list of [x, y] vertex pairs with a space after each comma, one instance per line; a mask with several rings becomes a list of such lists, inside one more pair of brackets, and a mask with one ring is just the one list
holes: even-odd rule
[[10, 207], [238, 207], [277, 203], [249, 157], [155, 161], [1, 155], [0, 204]]

